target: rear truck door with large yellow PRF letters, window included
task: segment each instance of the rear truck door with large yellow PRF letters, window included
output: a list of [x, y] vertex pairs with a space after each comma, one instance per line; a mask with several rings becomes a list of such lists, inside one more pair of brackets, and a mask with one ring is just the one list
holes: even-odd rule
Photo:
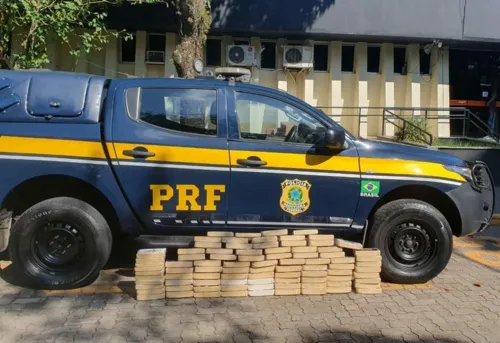
[[127, 81], [116, 92], [109, 150], [142, 224], [148, 233], [223, 228], [230, 175], [225, 89], [208, 81]]

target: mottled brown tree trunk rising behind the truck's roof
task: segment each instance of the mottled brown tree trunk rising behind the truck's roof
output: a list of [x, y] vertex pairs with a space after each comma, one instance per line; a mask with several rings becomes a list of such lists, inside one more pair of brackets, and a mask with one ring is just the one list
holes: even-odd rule
[[203, 46], [212, 23], [210, 0], [175, 0], [179, 44], [172, 56], [179, 77], [194, 78], [193, 61], [203, 58]]

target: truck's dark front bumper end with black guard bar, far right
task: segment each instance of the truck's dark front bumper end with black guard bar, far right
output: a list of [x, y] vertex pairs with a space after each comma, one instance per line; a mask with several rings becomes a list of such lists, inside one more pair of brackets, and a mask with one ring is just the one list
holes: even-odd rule
[[475, 162], [474, 167], [481, 169], [481, 182], [474, 178], [474, 182], [464, 183], [447, 193], [460, 213], [460, 236], [488, 228], [495, 209], [495, 185], [491, 172], [483, 162]]

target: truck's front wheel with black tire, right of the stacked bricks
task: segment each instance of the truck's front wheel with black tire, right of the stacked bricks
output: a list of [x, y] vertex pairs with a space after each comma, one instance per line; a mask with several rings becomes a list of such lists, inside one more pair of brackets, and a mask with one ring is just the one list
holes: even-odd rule
[[448, 221], [435, 207], [401, 199], [375, 212], [368, 246], [380, 249], [384, 280], [425, 283], [448, 264], [453, 235]]

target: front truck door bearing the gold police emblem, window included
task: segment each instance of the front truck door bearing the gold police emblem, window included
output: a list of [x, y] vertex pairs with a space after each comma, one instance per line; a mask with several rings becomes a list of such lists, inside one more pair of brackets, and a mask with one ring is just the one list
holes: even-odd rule
[[228, 225], [351, 227], [360, 195], [355, 146], [321, 147], [325, 118], [288, 97], [243, 89], [229, 101]]

